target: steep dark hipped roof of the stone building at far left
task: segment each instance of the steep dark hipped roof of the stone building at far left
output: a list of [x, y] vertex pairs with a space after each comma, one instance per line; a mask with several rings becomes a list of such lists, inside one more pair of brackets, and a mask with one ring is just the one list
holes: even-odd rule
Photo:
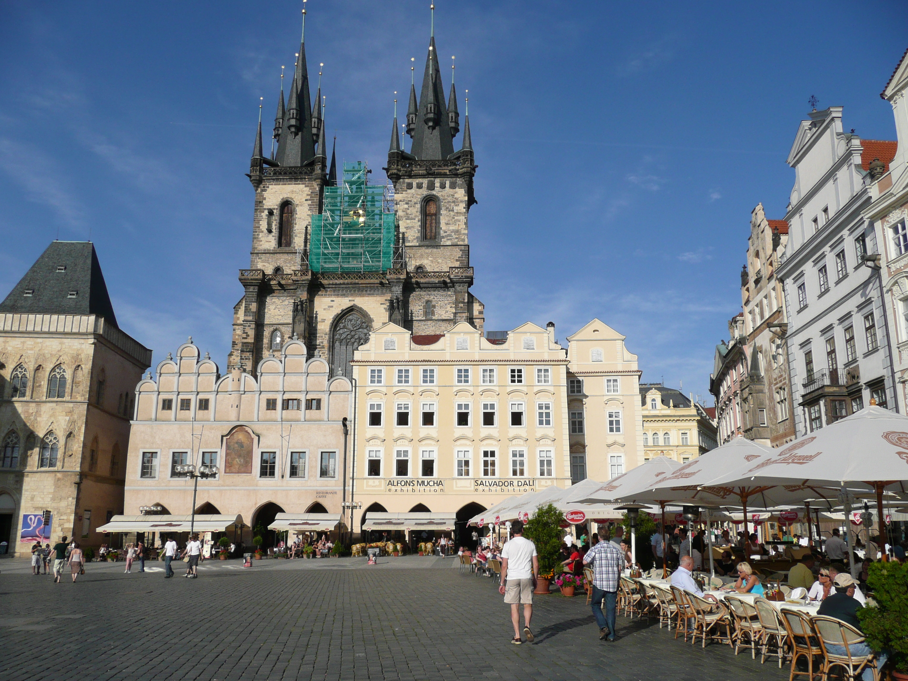
[[0, 312], [95, 314], [117, 325], [92, 242], [51, 242], [0, 303]]

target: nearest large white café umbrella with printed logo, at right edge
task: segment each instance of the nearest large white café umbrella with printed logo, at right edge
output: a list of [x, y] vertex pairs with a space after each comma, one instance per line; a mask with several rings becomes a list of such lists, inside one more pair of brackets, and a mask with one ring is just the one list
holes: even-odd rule
[[880, 538], [883, 492], [908, 492], [908, 417], [871, 406], [795, 439], [773, 456], [728, 471], [713, 484], [737, 486], [833, 486], [872, 489]]

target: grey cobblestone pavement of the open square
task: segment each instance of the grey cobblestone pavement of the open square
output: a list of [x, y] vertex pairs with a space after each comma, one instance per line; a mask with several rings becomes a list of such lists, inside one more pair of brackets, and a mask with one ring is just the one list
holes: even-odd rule
[[537, 597], [536, 643], [513, 646], [508, 609], [455, 559], [207, 561], [198, 579], [91, 563], [76, 584], [0, 561], [0, 678], [783, 679], [767, 660], [675, 640], [618, 617], [598, 640], [584, 597]]

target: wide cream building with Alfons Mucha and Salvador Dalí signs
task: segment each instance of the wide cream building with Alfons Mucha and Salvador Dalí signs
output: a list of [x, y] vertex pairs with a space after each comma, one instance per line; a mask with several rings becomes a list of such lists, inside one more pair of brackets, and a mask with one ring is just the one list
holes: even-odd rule
[[489, 341], [466, 322], [411, 335], [387, 323], [352, 362], [353, 530], [370, 512], [465, 522], [504, 498], [570, 484], [565, 350], [526, 323]]

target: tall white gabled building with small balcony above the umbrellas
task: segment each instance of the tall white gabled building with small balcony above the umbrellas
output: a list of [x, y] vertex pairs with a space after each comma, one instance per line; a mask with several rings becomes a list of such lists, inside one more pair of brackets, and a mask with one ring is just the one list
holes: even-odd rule
[[868, 258], [880, 252], [880, 235], [863, 214], [871, 202], [870, 150], [880, 144], [844, 132], [842, 107], [831, 106], [800, 123], [788, 155], [795, 186], [778, 276], [798, 436], [871, 399], [897, 409], [883, 281]]

